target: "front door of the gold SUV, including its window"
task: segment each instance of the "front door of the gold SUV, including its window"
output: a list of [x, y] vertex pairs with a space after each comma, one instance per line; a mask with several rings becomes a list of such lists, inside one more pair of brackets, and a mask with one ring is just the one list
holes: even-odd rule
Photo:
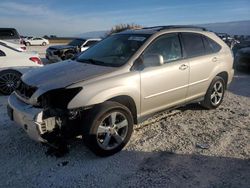
[[151, 54], [162, 56], [164, 64], [144, 64], [140, 72], [142, 116], [182, 103], [187, 94], [189, 65], [183, 59], [178, 33], [158, 37], [143, 56]]

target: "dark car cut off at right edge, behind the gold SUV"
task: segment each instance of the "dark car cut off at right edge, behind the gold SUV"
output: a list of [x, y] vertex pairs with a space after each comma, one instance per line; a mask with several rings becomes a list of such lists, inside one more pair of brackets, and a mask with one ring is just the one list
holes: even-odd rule
[[235, 68], [238, 70], [250, 68], [250, 46], [237, 51], [235, 55]]

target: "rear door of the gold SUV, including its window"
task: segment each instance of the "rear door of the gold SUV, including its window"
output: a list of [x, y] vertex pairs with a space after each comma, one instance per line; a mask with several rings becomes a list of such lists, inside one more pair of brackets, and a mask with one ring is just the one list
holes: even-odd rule
[[[190, 76], [187, 100], [199, 98], [210, 85], [210, 75], [219, 62], [206, 36], [198, 33], [181, 33], [185, 57], [189, 61]], [[220, 48], [217, 49], [219, 51]]]

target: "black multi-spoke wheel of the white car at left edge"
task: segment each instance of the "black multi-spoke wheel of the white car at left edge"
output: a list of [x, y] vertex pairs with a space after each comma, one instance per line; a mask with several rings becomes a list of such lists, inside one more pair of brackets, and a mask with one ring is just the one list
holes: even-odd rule
[[21, 73], [14, 70], [4, 70], [0, 72], [0, 93], [10, 95], [17, 87], [17, 82], [21, 76]]

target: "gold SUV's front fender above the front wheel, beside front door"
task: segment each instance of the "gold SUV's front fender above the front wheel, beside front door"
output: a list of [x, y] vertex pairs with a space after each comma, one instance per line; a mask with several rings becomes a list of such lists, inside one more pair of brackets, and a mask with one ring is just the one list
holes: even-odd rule
[[[114, 80], [115, 79], [115, 80]], [[113, 78], [102, 80], [83, 86], [68, 104], [68, 109], [92, 106], [103, 103], [113, 97], [131, 97], [140, 110], [140, 76], [139, 74], [130, 75], [127, 78]]]

